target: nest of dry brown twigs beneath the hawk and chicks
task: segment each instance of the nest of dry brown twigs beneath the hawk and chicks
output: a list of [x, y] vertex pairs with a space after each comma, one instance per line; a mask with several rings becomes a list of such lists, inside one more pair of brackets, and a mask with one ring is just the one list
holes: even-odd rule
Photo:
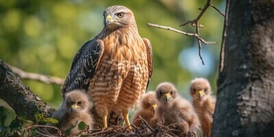
[[[175, 125], [169, 125], [164, 126], [160, 125], [158, 123], [155, 124], [155, 127], [151, 127], [145, 119], [142, 119], [140, 117], [140, 120], [142, 120], [142, 123], [140, 124], [140, 127], [135, 127], [132, 125], [132, 130], [128, 129], [128, 127], [123, 127], [119, 125], [112, 125], [108, 127], [107, 129], [92, 129], [92, 130], [82, 130], [77, 134], [77, 136], [159, 136], [159, 137], [172, 137], [177, 136], [173, 134], [173, 127]], [[55, 134], [49, 133], [47, 129], [54, 129]], [[60, 131], [57, 127], [47, 126], [47, 125], [32, 125], [27, 128], [19, 129], [18, 132], [21, 133], [28, 133], [27, 136], [53, 136], [53, 137], [61, 137], [65, 136], [64, 133]], [[15, 132], [15, 133], [18, 133]], [[187, 133], [182, 134], [184, 137], [194, 137], [197, 136], [195, 133]]]

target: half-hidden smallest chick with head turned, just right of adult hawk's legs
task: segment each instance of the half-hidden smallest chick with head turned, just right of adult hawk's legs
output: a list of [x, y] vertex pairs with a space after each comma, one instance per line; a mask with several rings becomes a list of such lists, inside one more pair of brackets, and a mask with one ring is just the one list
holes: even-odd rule
[[155, 92], [147, 92], [147, 94], [145, 94], [140, 101], [140, 110], [134, 114], [133, 124], [136, 127], [139, 127], [140, 123], [142, 123], [139, 116], [142, 116], [142, 118], [145, 119], [149, 125], [154, 126], [155, 121], [153, 118], [155, 116], [155, 108], [157, 108], [158, 105], [157, 103], [158, 101], [156, 99]]

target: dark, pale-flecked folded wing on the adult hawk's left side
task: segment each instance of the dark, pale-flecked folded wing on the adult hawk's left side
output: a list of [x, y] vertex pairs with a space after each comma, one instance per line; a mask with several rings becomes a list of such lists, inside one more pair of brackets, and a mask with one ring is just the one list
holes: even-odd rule
[[95, 74], [97, 65], [103, 54], [102, 40], [89, 40], [75, 55], [71, 64], [71, 71], [62, 86], [62, 96], [75, 89], [88, 90], [90, 79]]

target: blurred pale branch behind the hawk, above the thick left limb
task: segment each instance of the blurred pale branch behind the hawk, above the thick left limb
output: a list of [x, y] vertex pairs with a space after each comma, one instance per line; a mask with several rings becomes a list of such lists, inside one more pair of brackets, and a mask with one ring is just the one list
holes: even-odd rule
[[59, 77], [52, 77], [48, 75], [42, 75], [38, 73], [29, 73], [26, 71], [23, 71], [21, 69], [16, 68], [15, 66], [10, 66], [10, 69], [18, 75], [21, 79], [32, 79], [32, 80], [37, 80], [39, 82], [44, 82], [46, 84], [58, 84], [62, 85], [64, 83], [64, 79], [61, 79]]

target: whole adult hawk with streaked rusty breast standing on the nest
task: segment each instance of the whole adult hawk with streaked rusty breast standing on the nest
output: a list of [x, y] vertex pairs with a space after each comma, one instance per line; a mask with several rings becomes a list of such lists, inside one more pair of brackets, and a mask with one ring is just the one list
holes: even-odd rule
[[103, 16], [102, 32], [75, 55], [62, 95], [84, 89], [95, 105], [95, 118], [100, 118], [97, 123], [103, 119], [107, 127], [108, 116], [123, 114], [129, 125], [128, 110], [145, 93], [152, 75], [151, 44], [140, 38], [134, 14], [128, 8], [114, 5], [106, 8]]

